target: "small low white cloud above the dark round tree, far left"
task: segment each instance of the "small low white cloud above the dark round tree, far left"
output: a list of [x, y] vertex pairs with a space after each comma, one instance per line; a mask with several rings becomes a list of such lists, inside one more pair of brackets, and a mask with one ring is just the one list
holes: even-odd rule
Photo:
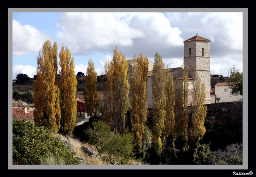
[[16, 79], [17, 74], [27, 74], [28, 77], [33, 78], [36, 75], [36, 67], [31, 65], [15, 65], [12, 67], [12, 80]]

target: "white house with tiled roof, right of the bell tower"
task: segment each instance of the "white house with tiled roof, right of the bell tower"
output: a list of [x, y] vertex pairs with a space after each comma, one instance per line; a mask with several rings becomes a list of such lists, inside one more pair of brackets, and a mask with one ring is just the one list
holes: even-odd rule
[[[231, 91], [231, 89], [228, 87], [227, 82], [218, 82], [215, 85], [215, 95], [216, 95], [216, 97], [220, 98], [219, 103], [234, 102], [234, 101], [239, 101], [239, 100], [243, 99], [242, 95], [230, 96], [230, 91]], [[215, 103], [215, 100], [212, 101], [212, 103]]]

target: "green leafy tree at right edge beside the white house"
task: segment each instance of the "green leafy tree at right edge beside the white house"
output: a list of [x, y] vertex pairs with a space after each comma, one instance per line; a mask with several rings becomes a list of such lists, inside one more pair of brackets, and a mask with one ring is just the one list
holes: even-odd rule
[[239, 69], [231, 70], [230, 77], [228, 78], [228, 87], [231, 89], [230, 96], [243, 96], [243, 73]]

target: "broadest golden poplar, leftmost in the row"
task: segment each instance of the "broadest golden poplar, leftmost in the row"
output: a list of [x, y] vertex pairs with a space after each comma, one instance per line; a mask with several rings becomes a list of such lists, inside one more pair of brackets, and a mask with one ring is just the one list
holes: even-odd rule
[[36, 126], [44, 126], [57, 133], [60, 129], [60, 99], [57, 71], [57, 43], [51, 46], [47, 39], [37, 56], [36, 81], [34, 87], [34, 122]]

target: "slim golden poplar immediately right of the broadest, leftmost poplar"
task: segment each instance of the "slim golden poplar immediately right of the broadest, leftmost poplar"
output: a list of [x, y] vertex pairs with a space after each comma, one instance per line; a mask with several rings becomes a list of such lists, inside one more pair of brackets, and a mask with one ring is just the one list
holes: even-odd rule
[[72, 133], [76, 125], [76, 75], [74, 57], [68, 47], [62, 44], [59, 53], [60, 57], [60, 98], [61, 98], [61, 119], [60, 119], [60, 132], [65, 134]]

